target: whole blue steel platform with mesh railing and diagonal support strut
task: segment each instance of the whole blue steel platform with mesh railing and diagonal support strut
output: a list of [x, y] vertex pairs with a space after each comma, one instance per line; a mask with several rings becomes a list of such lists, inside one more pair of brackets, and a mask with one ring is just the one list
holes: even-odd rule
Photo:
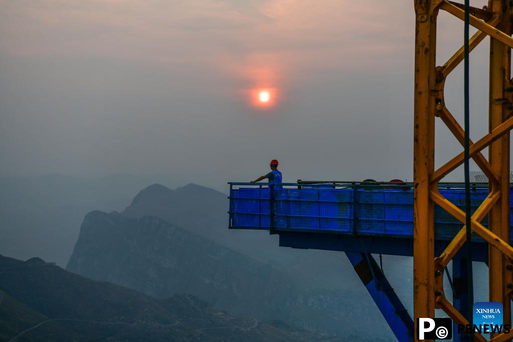
[[[413, 340], [413, 322], [371, 254], [413, 256], [413, 191], [406, 184], [263, 184], [229, 183], [230, 229], [268, 230], [280, 246], [343, 251], [399, 341]], [[488, 194], [486, 184], [471, 187], [475, 211]], [[461, 184], [443, 184], [440, 193], [464, 210]], [[510, 194], [510, 230], [513, 214]], [[487, 227], [487, 217], [481, 222]], [[440, 255], [463, 224], [435, 206], [435, 255]], [[513, 234], [511, 234], [513, 236]], [[465, 278], [465, 255], [452, 260], [452, 279]], [[472, 237], [472, 260], [488, 262], [488, 244]], [[451, 286], [452, 287], [452, 286]], [[464, 287], [452, 287], [452, 301], [467, 313]], [[455, 341], [466, 335], [453, 334]]]

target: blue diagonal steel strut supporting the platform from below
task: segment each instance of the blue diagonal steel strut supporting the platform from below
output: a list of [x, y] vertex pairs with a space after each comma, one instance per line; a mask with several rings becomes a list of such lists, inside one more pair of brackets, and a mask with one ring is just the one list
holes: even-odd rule
[[413, 341], [413, 320], [376, 260], [368, 253], [346, 252], [346, 255], [399, 342]]

